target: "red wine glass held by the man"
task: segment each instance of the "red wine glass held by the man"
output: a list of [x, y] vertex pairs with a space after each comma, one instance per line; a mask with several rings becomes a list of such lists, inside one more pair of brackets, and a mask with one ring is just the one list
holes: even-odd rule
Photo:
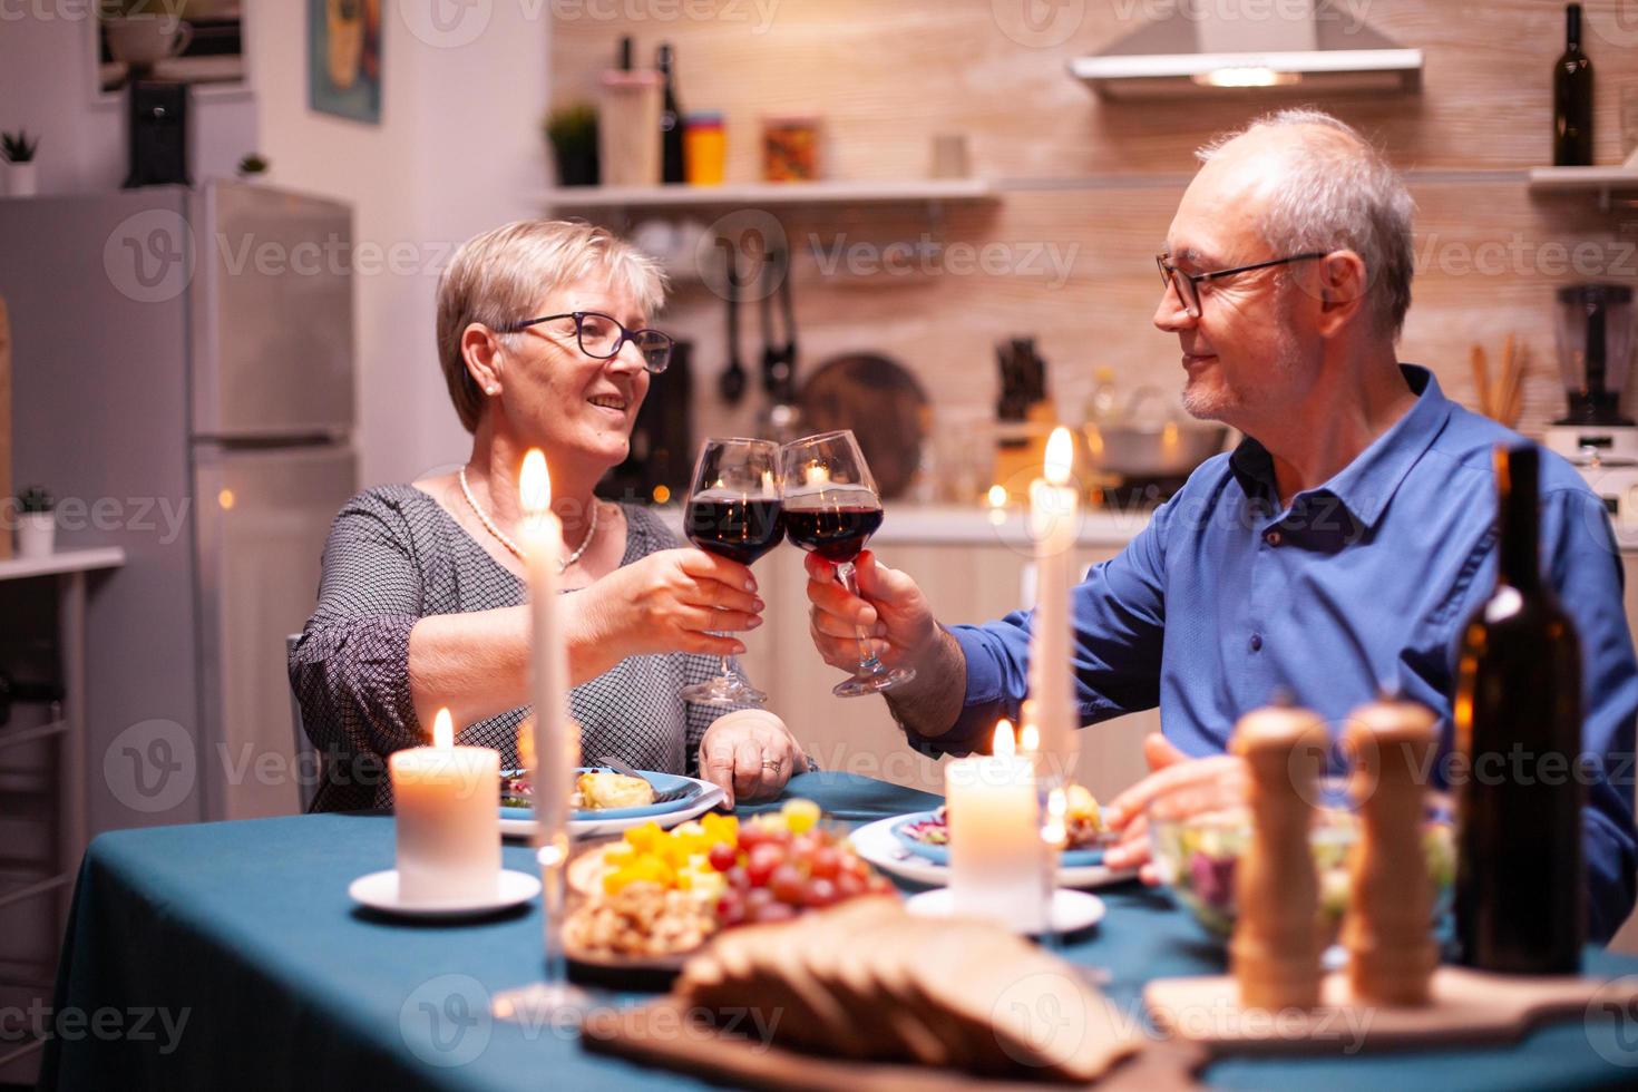
[[[853, 558], [881, 526], [881, 496], [852, 431], [821, 432], [780, 449], [785, 478], [785, 534], [837, 566], [837, 580], [855, 596]], [[839, 697], [876, 694], [916, 678], [911, 668], [888, 668], [858, 627], [858, 670], [830, 693]]]

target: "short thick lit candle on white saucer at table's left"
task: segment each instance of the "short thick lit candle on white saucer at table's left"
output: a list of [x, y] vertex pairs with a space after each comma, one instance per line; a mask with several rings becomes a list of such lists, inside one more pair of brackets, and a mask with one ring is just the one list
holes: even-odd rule
[[432, 747], [393, 751], [393, 828], [398, 897], [405, 902], [482, 902], [501, 873], [501, 756], [454, 747], [447, 709], [432, 722]]

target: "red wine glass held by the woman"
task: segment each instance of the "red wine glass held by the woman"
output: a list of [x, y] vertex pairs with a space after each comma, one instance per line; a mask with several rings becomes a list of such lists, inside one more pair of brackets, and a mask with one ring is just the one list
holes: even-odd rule
[[[780, 445], [742, 437], [709, 439], [699, 449], [683, 517], [688, 540], [717, 557], [752, 565], [780, 545]], [[683, 689], [683, 701], [706, 706], [762, 706], [768, 696], [734, 675], [722, 657], [722, 675]]]

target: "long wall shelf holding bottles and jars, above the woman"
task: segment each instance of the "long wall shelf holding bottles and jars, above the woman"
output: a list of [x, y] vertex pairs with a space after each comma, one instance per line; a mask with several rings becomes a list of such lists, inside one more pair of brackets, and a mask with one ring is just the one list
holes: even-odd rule
[[907, 182], [753, 182], [690, 187], [559, 187], [542, 195], [549, 208], [719, 208], [727, 205], [907, 205], [921, 201], [996, 201], [984, 178], [912, 178]]

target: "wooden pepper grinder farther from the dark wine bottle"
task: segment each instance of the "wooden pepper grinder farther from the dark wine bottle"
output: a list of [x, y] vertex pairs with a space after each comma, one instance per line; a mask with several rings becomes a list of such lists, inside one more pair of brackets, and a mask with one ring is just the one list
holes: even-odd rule
[[1325, 756], [1325, 722], [1289, 697], [1235, 724], [1230, 750], [1250, 774], [1251, 843], [1235, 881], [1228, 958], [1245, 1009], [1320, 1002], [1319, 876], [1309, 827]]

